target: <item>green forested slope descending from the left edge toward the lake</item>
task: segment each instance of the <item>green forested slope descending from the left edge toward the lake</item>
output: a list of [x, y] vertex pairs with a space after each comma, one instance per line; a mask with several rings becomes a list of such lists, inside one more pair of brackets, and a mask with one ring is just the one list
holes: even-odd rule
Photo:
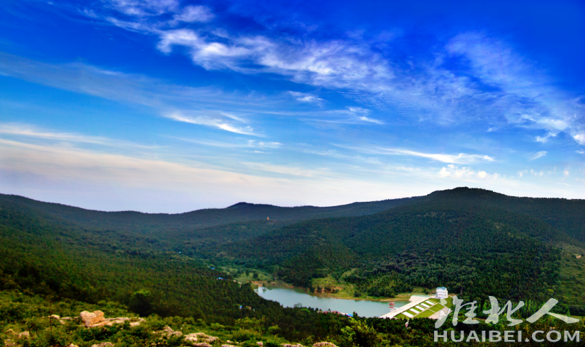
[[[335, 314], [280, 307], [277, 302], [256, 295], [249, 284], [240, 285], [227, 273], [176, 252], [160, 251], [153, 237], [84, 229], [56, 221], [42, 217], [35, 210], [0, 201], [0, 326], [6, 326], [1, 331], [0, 346], [4, 346], [6, 337], [13, 339], [6, 330], [16, 329], [13, 325], [16, 323], [31, 332], [51, 331], [52, 334], [47, 316], [63, 314], [55, 312], [55, 307], [71, 307], [73, 302], [79, 308], [69, 312], [75, 315], [89, 307], [103, 309], [110, 315], [113, 312], [108, 307], [121, 304], [141, 316], [154, 313], [174, 317], [172, 322], [183, 322], [180, 317], [188, 317], [192, 324], [195, 321], [200, 326], [210, 324], [216, 330], [231, 331], [239, 322], [252, 322], [258, 331], [276, 326], [271, 334], [293, 341], [309, 336], [324, 339], [339, 334], [341, 326], [347, 324], [346, 317]], [[33, 313], [31, 309], [36, 307], [28, 305], [31, 301], [39, 302], [39, 298], [47, 308], [42, 314]], [[118, 304], [106, 302], [110, 300]], [[116, 329], [103, 327], [92, 332], [72, 323], [67, 331], [84, 336], [80, 346], [92, 346], [94, 339], [130, 329], [120, 325]], [[164, 324], [155, 329], [160, 331], [163, 327]], [[135, 336], [147, 339], [153, 334], [141, 329]], [[147, 346], [135, 342], [135, 336], [123, 343], [115, 341], [116, 346]], [[259, 334], [249, 330], [239, 336], [229, 338], [259, 339]], [[31, 334], [30, 341], [38, 341], [37, 336]], [[69, 346], [69, 342], [54, 339], [47, 343], [30, 341], [23, 339], [19, 341], [20, 346]], [[178, 339], [173, 341], [171, 344], [159, 340], [152, 346], [180, 346]], [[258, 346], [255, 341], [254, 346]]]

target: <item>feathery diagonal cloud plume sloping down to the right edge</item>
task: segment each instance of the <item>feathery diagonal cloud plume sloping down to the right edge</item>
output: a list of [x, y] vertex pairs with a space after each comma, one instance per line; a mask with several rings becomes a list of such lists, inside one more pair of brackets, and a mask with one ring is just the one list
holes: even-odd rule
[[584, 105], [557, 89], [549, 76], [518, 55], [511, 45], [482, 33], [464, 33], [446, 47], [451, 55], [468, 59], [470, 73], [501, 90], [492, 93], [495, 103], [486, 105], [486, 110], [496, 107], [504, 110], [502, 115], [513, 125], [549, 131], [537, 141], [545, 142], [562, 131], [579, 142]]

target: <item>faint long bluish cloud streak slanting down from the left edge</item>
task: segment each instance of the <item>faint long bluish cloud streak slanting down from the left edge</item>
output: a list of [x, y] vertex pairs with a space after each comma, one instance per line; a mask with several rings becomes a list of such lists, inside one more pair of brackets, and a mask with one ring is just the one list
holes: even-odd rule
[[[35, 62], [1, 52], [0, 73], [59, 89], [149, 106], [159, 115], [172, 120], [242, 135], [261, 136], [251, 125], [243, 125], [249, 123], [249, 120], [244, 120], [237, 110], [245, 106], [259, 111], [279, 102], [267, 101], [260, 95], [169, 84], [140, 74], [127, 74], [87, 64]], [[261, 105], [262, 102], [268, 106]]]

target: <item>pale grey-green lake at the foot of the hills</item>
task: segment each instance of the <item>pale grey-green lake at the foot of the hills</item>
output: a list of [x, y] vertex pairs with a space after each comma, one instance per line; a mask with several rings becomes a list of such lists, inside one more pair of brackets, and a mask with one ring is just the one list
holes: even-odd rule
[[[390, 312], [388, 302], [318, 297], [293, 288], [260, 287], [256, 289], [256, 292], [264, 299], [276, 301], [284, 307], [294, 307], [296, 304], [300, 304], [303, 307], [312, 307], [323, 311], [331, 309], [331, 311], [346, 314], [356, 312], [360, 317], [380, 317]], [[408, 303], [408, 301], [397, 301], [394, 307], [402, 307]]]

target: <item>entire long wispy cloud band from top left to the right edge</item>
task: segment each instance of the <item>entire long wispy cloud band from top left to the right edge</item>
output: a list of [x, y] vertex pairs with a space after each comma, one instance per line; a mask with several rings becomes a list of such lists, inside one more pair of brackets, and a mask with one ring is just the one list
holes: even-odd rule
[[[169, 13], [181, 11], [171, 4], [155, 8], [165, 6]], [[510, 125], [547, 131], [549, 135], [536, 137], [539, 142], [567, 132], [585, 144], [582, 96], [565, 93], [509, 42], [484, 33], [455, 35], [437, 46], [434, 60], [414, 57], [406, 67], [373, 49], [378, 42], [364, 41], [360, 35], [319, 40], [310, 35], [298, 39], [234, 34], [217, 27], [169, 29], [147, 23], [141, 15], [135, 16], [133, 25], [113, 23], [159, 36], [157, 47], [167, 54], [174, 47], [186, 47], [193, 63], [208, 70], [268, 72], [445, 126], [488, 122], [493, 131]], [[445, 64], [453, 59], [458, 60], [458, 69]]]

